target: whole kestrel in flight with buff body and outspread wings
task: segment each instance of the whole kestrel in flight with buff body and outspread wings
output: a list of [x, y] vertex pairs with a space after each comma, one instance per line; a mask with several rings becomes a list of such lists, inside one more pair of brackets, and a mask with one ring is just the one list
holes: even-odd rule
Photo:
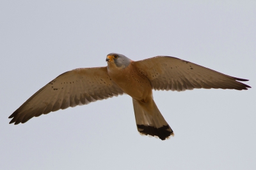
[[153, 100], [152, 89], [184, 91], [194, 88], [248, 89], [248, 81], [169, 56], [132, 61], [110, 53], [108, 66], [77, 68], [62, 73], [39, 89], [9, 117], [15, 125], [42, 114], [127, 94], [132, 97], [140, 134], [168, 139], [172, 128]]

